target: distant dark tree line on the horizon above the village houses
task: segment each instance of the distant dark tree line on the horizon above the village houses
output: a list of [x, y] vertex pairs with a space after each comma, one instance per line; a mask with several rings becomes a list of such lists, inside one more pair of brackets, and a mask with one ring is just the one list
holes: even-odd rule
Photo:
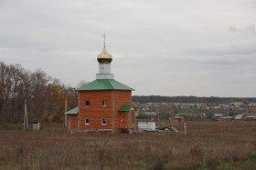
[[197, 96], [161, 96], [161, 95], [133, 95], [133, 102], [145, 103], [205, 103], [228, 104], [231, 102], [255, 103], [255, 97], [197, 97]]

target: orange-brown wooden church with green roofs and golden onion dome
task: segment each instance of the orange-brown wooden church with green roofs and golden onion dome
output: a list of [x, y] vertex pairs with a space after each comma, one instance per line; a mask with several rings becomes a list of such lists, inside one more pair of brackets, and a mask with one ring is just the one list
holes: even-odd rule
[[130, 131], [135, 123], [133, 88], [114, 80], [112, 55], [104, 46], [97, 60], [96, 80], [77, 89], [79, 105], [65, 113], [69, 131]]

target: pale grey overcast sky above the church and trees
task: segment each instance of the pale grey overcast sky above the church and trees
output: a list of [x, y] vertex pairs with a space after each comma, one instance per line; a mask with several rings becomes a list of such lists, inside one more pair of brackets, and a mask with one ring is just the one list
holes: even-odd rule
[[255, 0], [0, 0], [0, 61], [93, 81], [103, 46], [133, 95], [256, 97]]

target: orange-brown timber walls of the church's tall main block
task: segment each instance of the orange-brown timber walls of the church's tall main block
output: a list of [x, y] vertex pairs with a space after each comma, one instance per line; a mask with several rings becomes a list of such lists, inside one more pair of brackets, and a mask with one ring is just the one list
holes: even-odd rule
[[[113, 97], [113, 98], [112, 98]], [[101, 106], [101, 100], [106, 100], [107, 105]], [[90, 101], [90, 106], [85, 106], [85, 101]], [[112, 108], [112, 101], [114, 102]], [[80, 92], [80, 130], [112, 130], [112, 109], [114, 111], [114, 130], [120, 128], [120, 113], [122, 105], [132, 104], [132, 92], [123, 90], [83, 91]], [[125, 121], [130, 117], [125, 115]], [[85, 119], [89, 118], [90, 125], [85, 125]], [[101, 124], [101, 119], [107, 120], [106, 125]], [[73, 123], [72, 123], [73, 124]]]

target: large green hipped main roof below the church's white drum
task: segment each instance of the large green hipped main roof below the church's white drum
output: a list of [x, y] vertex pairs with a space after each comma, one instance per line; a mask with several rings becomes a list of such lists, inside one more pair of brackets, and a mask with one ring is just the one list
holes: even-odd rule
[[91, 90], [134, 90], [133, 88], [123, 85], [114, 79], [96, 79], [87, 85], [83, 85], [77, 89], [78, 91]]

